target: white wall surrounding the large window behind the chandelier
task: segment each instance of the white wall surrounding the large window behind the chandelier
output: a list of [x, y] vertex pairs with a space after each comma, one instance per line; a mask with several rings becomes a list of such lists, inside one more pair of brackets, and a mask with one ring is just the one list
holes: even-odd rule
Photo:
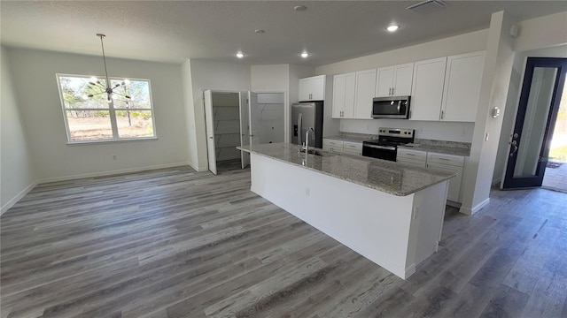
[[104, 75], [102, 57], [34, 49], [8, 52], [37, 178], [57, 180], [188, 163], [181, 65], [107, 58], [110, 76], [151, 80], [158, 139], [70, 146], [55, 74]]

